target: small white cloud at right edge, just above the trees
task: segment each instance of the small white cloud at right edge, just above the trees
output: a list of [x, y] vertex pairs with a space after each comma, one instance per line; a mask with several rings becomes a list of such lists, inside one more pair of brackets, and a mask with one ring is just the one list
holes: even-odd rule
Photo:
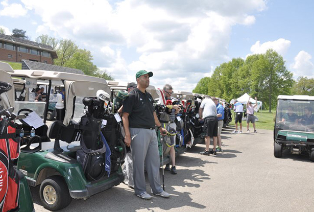
[[297, 77], [314, 77], [314, 65], [311, 62], [312, 56], [305, 51], [300, 51], [295, 57], [295, 61], [291, 64], [294, 73]]

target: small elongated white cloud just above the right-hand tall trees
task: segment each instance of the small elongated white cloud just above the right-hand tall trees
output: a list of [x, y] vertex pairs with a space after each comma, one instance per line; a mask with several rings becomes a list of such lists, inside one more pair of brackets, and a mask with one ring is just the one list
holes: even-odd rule
[[269, 49], [273, 49], [280, 55], [284, 55], [291, 45], [291, 41], [284, 38], [279, 38], [278, 40], [268, 41], [260, 44], [260, 41], [256, 41], [255, 44], [251, 46], [252, 54], [263, 54]]

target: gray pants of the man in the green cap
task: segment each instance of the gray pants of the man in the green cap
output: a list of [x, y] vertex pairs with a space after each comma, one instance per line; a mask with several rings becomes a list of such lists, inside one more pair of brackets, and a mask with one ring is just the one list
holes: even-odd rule
[[148, 174], [153, 193], [161, 193], [159, 179], [159, 151], [155, 130], [130, 128], [131, 149], [133, 154], [133, 177], [135, 194], [146, 192], [144, 167]]

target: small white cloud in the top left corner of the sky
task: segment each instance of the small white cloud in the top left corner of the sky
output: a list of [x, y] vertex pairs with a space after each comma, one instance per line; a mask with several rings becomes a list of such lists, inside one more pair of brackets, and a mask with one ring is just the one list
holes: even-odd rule
[[20, 16], [25, 16], [27, 14], [27, 9], [23, 8], [21, 4], [9, 4], [8, 2], [8, 0], [4, 0], [1, 2], [3, 9], [0, 10], [0, 16], [17, 18]]

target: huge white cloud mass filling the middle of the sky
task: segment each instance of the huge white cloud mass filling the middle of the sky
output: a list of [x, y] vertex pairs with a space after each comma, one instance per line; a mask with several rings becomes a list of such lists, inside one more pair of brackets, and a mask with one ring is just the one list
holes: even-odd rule
[[266, 8], [262, 0], [55, 0], [49, 7], [21, 1], [41, 17], [38, 35], [75, 40], [116, 80], [134, 81], [137, 70], [147, 69], [160, 87], [179, 77], [179, 90], [191, 90], [211, 66], [228, 60], [232, 27], [254, 24], [252, 13]]

